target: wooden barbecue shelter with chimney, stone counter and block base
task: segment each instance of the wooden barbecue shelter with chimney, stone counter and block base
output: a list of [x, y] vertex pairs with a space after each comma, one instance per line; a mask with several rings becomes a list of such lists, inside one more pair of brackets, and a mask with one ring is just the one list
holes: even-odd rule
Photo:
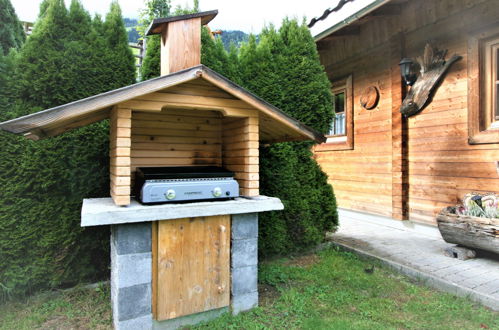
[[[116, 328], [191, 324], [189, 315], [256, 306], [257, 213], [283, 208], [259, 196], [259, 144], [325, 141], [200, 64], [201, 26], [217, 13], [153, 21], [160, 77], [0, 123], [38, 140], [109, 119], [111, 198], [85, 200], [82, 226], [112, 225]], [[152, 206], [131, 198], [138, 167], [206, 165], [234, 172], [241, 197]]]

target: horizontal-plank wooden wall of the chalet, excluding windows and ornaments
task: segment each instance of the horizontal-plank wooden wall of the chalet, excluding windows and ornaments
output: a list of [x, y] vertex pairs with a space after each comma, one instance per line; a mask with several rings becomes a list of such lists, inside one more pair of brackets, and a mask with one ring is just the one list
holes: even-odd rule
[[[400, 15], [364, 19], [359, 34], [321, 45], [321, 61], [332, 80], [353, 75], [354, 150], [316, 152], [340, 207], [396, 217], [404, 213], [395, 210], [397, 198], [405, 195], [407, 214], [401, 218], [434, 225], [437, 213], [465, 193], [499, 192], [499, 144], [468, 144], [467, 124], [468, 40], [497, 22], [499, 6], [494, 0], [414, 0], [401, 5]], [[399, 33], [405, 40], [400, 59], [421, 56], [428, 40], [448, 49], [448, 57], [463, 56], [431, 104], [405, 127], [395, 121], [401, 99], [392, 90], [399, 86], [393, 44]], [[377, 108], [367, 111], [359, 95], [371, 85], [380, 89], [381, 97]], [[399, 142], [399, 134], [405, 141]], [[402, 147], [407, 150], [400, 161], [407, 167], [406, 184], [401, 186], [395, 155], [399, 157]]]

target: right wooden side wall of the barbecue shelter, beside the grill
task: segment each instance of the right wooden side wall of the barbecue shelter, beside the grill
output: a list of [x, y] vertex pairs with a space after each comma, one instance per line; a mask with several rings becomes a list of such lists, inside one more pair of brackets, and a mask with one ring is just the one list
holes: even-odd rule
[[235, 172], [239, 193], [259, 193], [258, 117], [223, 120], [223, 166]]

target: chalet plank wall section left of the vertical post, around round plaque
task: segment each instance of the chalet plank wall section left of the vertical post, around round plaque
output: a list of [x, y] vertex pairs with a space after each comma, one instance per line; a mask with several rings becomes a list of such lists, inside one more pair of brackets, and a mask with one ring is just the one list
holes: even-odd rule
[[[392, 142], [389, 47], [378, 47], [366, 60], [343, 63], [331, 80], [352, 74], [354, 149], [316, 152], [333, 185], [340, 207], [392, 215]], [[367, 60], [369, 59], [369, 60]], [[360, 106], [362, 91], [375, 85], [380, 101], [373, 110]]]

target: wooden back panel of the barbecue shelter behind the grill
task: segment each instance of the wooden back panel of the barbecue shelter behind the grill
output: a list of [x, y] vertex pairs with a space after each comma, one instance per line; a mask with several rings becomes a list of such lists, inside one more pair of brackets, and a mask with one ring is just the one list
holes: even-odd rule
[[222, 163], [221, 114], [165, 109], [132, 114], [132, 175], [137, 167]]

